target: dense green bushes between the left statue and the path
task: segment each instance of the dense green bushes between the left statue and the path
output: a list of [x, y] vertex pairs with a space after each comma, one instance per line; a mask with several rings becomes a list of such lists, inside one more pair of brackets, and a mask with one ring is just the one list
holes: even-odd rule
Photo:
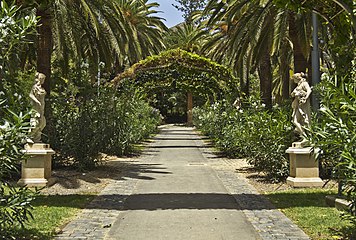
[[[137, 91], [92, 86], [88, 69], [73, 71], [52, 91], [55, 165], [93, 168], [100, 153], [123, 155], [155, 132], [159, 112]], [[60, 81], [58, 79], [58, 81]]]

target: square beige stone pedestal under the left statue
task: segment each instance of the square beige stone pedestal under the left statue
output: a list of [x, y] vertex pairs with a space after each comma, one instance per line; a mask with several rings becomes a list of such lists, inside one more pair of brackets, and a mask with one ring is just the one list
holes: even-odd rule
[[29, 156], [22, 161], [19, 185], [44, 187], [51, 182], [53, 149], [49, 144], [34, 143], [25, 146], [24, 153]]

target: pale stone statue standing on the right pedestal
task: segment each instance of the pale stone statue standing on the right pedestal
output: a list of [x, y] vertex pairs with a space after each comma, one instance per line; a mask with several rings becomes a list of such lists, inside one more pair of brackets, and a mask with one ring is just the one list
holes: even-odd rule
[[292, 80], [297, 84], [291, 93], [292, 97], [294, 97], [292, 102], [292, 122], [296, 126], [296, 131], [303, 137], [305, 134], [303, 126], [310, 126], [310, 94], [312, 90], [303, 72], [293, 74]]

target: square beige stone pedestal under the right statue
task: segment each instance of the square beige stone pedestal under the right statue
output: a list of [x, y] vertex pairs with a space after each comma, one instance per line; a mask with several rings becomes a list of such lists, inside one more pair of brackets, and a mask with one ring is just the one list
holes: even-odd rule
[[324, 182], [319, 177], [319, 162], [311, 147], [293, 143], [286, 153], [289, 154], [290, 176], [287, 183], [293, 187], [322, 187]]

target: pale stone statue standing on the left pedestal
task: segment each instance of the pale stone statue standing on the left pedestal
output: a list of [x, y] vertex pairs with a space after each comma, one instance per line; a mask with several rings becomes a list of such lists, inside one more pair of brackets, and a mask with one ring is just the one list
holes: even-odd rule
[[30, 136], [32, 142], [41, 142], [42, 130], [46, 126], [44, 116], [46, 90], [42, 87], [46, 76], [43, 73], [36, 73], [35, 82], [30, 92], [30, 98], [34, 113], [31, 116]]

